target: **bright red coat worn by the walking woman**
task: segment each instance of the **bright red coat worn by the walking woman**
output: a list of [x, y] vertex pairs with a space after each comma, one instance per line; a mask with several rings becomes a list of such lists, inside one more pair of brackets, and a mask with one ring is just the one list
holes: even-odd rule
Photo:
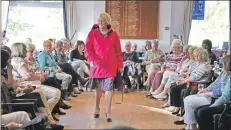
[[116, 77], [118, 68], [123, 67], [118, 34], [110, 28], [103, 36], [99, 26], [93, 25], [87, 37], [85, 57], [95, 65], [90, 68], [90, 78]]

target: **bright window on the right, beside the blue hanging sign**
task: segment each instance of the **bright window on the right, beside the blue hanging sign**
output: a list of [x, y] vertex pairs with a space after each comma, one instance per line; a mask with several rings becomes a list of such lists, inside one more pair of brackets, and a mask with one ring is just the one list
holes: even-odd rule
[[205, 1], [205, 18], [192, 21], [189, 44], [201, 46], [210, 39], [213, 47], [221, 48], [229, 41], [229, 28], [229, 1]]

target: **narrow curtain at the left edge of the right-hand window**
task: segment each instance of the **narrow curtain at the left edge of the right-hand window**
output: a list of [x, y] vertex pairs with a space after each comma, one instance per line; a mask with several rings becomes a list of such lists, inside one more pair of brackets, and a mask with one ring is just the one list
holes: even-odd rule
[[189, 35], [192, 24], [192, 11], [193, 11], [193, 0], [184, 1], [184, 21], [182, 26], [182, 42], [183, 45], [187, 45], [189, 41]]

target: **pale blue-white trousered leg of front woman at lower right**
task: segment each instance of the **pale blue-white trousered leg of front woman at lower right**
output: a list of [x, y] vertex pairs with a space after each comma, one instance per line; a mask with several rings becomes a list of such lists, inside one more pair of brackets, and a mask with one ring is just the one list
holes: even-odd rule
[[196, 119], [194, 111], [197, 107], [210, 104], [205, 97], [190, 95], [184, 99], [185, 116], [184, 122], [187, 124], [186, 129], [196, 129]]

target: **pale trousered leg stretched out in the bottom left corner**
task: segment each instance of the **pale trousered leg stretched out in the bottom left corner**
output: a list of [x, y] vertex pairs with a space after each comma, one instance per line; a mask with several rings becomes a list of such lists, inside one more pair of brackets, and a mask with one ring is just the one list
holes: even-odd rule
[[9, 124], [11, 122], [15, 122], [18, 124], [25, 124], [27, 122], [30, 122], [30, 117], [29, 115], [24, 112], [24, 111], [17, 111], [17, 112], [12, 112], [8, 114], [3, 114], [1, 116], [1, 123], [2, 124]]

